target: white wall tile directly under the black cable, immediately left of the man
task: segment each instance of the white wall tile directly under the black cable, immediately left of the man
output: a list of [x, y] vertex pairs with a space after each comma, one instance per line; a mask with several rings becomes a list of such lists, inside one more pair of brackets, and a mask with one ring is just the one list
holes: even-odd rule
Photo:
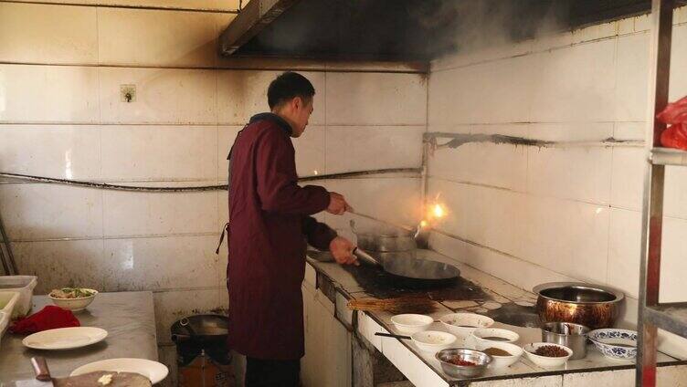
[[[206, 183], [185, 182], [182, 185]], [[174, 186], [174, 183], [164, 185]], [[103, 229], [108, 236], [217, 232], [217, 192], [107, 191], [103, 194], [103, 203]]]

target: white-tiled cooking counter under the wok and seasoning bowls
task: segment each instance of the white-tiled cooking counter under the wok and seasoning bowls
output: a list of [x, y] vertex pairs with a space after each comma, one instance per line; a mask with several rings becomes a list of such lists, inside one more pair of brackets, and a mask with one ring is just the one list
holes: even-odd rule
[[[378, 290], [370, 284], [363, 284], [362, 279], [369, 277], [362, 275], [359, 270], [371, 270], [374, 267], [341, 267], [333, 262], [328, 262], [326, 254], [320, 252], [309, 252], [308, 268], [306, 268], [306, 281], [311, 281], [313, 285], [321, 288], [335, 303], [337, 319], [342, 323], [355, 327], [365, 339], [369, 340], [377, 350], [396, 365], [399, 371], [403, 372], [407, 378], [416, 386], [453, 386], [467, 385], [471, 382], [486, 382], [504, 379], [519, 379], [540, 377], [546, 375], [561, 375], [570, 372], [592, 372], [592, 371], [614, 371], [634, 368], [634, 361], [614, 361], [604, 357], [596, 348], [589, 344], [587, 346], [587, 357], [577, 361], [568, 361], [565, 366], [556, 369], [544, 369], [533, 362], [527, 360], [525, 356], [511, 367], [504, 369], [489, 369], [480, 378], [455, 379], [441, 371], [439, 361], [434, 358], [433, 353], [419, 350], [410, 340], [398, 340], [394, 338], [383, 338], [375, 336], [375, 332], [400, 333], [391, 323], [392, 314], [388, 312], [365, 312], [353, 313], [345, 308], [345, 303], [354, 298], [387, 298], [401, 295], [397, 291], [392, 291], [383, 297], [375, 294]], [[506, 320], [499, 322], [498, 313], [500, 310], [510, 310], [513, 318], [523, 318], [526, 315], [533, 315], [536, 297], [533, 293], [516, 288], [499, 278], [492, 277], [473, 267], [462, 265], [448, 256], [430, 250], [418, 250], [418, 257], [432, 259], [450, 263], [460, 269], [461, 281], [463, 286], [470, 290], [467, 298], [444, 298], [436, 303], [436, 310], [430, 315], [435, 319], [440, 316], [456, 311], [470, 311], [490, 315], [497, 320], [493, 328], [510, 329], [520, 335], [520, 340], [516, 342], [523, 345], [528, 342], [542, 341], [541, 329], [525, 328], [510, 325]], [[479, 290], [479, 291], [477, 291]], [[384, 291], [383, 291], [384, 292]], [[394, 294], [396, 293], [396, 294]], [[450, 292], [449, 292], [450, 294]], [[460, 292], [456, 294], [460, 295]], [[514, 312], [514, 313], [513, 313]], [[517, 324], [517, 322], [512, 322]], [[523, 325], [523, 324], [521, 324]], [[445, 330], [440, 323], [435, 323], [430, 329]], [[458, 346], [465, 345], [460, 342]], [[670, 356], [659, 353], [659, 365], [685, 364]]]

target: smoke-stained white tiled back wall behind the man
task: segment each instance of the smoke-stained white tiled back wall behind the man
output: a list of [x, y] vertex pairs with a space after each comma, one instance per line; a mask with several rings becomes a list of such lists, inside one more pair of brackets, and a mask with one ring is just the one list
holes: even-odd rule
[[[0, 171], [149, 186], [226, 183], [229, 147], [251, 115], [268, 109], [274, 68], [301, 69], [316, 89], [308, 131], [294, 141], [301, 175], [419, 166], [424, 76], [383, 63], [348, 72], [342, 64], [282, 61], [259, 70], [263, 61], [217, 58], [217, 37], [234, 14], [199, 11], [237, 4], [0, 3]], [[194, 11], [141, 8], [150, 6]], [[136, 87], [132, 103], [120, 97], [128, 84]], [[417, 217], [417, 178], [374, 182], [325, 184], [360, 212], [396, 219], [402, 204], [401, 218]], [[0, 212], [20, 269], [39, 277], [37, 293], [68, 284], [152, 290], [167, 352], [175, 319], [227, 308], [226, 245], [214, 254], [226, 192], [0, 182]]]

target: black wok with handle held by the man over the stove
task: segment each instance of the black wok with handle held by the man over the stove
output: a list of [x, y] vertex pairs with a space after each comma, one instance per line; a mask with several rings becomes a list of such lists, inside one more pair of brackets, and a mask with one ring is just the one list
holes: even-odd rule
[[380, 262], [375, 256], [368, 254], [359, 247], [355, 247], [353, 253], [360, 260], [370, 265], [382, 267], [386, 273], [398, 277], [408, 285], [418, 287], [446, 285], [460, 277], [458, 267], [443, 262], [416, 258], [414, 255], [400, 253], [396, 256], [386, 256]]

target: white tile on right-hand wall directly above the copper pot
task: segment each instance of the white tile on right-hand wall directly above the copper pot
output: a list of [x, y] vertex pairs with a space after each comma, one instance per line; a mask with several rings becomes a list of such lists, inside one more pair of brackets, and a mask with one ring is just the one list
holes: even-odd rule
[[582, 280], [606, 280], [608, 207], [530, 196], [526, 211], [527, 260]]

